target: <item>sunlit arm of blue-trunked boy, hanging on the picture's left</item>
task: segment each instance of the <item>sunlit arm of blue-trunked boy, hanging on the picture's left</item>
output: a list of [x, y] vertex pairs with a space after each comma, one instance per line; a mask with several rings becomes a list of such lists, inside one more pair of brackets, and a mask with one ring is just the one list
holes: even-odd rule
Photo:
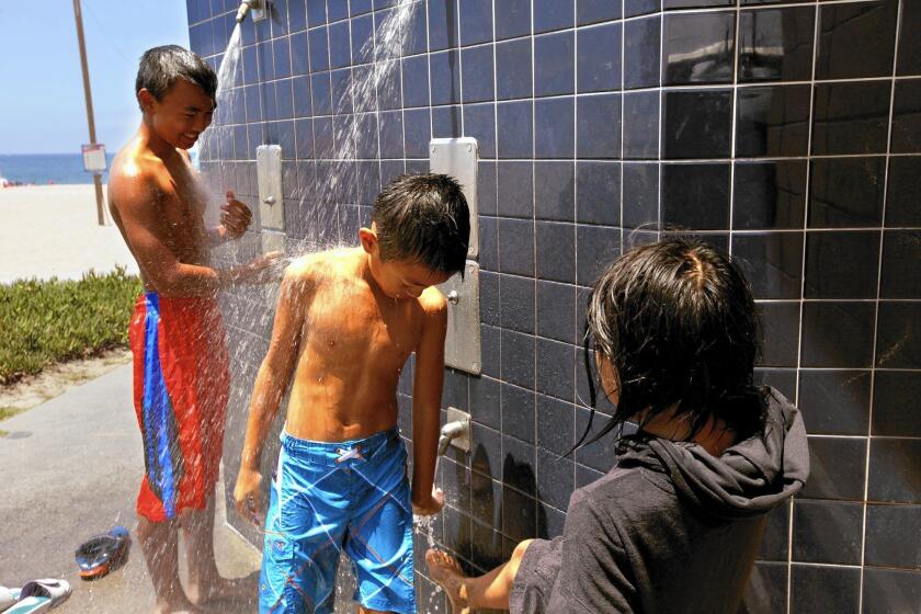
[[292, 266], [285, 273], [278, 292], [272, 341], [262, 366], [259, 367], [250, 400], [247, 434], [234, 499], [237, 510], [257, 524], [263, 510], [262, 474], [259, 469], [262, 447], [300, 353], [304, 314], [310, 292], [308, 286], [307, 277], [298, 268]]

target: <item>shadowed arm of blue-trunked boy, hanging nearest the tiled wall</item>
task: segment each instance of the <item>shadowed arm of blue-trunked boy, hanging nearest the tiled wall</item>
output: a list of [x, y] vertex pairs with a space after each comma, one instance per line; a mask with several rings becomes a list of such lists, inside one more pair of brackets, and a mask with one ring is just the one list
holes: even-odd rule
[[444, 505], [444, 496], [433, 492], [432, 485], [441, 422], [447, 303], [437, 288], [427, 289], [420, 303], [425, 319], [416, 349], [412, 385], [412, 508], [419, 514], [434, 514]]

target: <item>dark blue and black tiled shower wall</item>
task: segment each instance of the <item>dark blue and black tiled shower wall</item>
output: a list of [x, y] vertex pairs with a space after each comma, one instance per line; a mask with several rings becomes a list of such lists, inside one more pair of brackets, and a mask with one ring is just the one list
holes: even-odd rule
[[[217, 65], [235, 2], [187, 4]], [[417, 0], [417, 36], [360, 110], [379, 138], [348, 162], [329, 159], [359, 117], [340, 92], [396, 2], [272, 4], [245, 23], [203, 167], [252, 197], [255, 147], [281, 144], [292, 247], [351, 241], [383, 182], [428, 168], [430, 138], [479, 139], [484, 374], [447, 373], [475, 450], [442, 464], [440, 543], [485, 570], [560, 532], [572, 489], [614, 462], [603, 444], [559, 459], [589, 414], [585, 287], [624, 246], [686, 232], [744, 261], [759, 377], [810, 433], [812, 479], [771, 514], [743, 611], [921, 610], [921, 2]], [[269, 323], [257, 292], [227, 307], [232, 480]]]

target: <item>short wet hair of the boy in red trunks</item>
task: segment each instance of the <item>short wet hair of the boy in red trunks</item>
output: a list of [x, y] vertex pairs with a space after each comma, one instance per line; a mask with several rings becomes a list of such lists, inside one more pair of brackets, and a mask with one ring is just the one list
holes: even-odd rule
[[179, 45], [164, 45], [144, 52], [135, 79], [135, 94], [146, 88], [155, 99], [161, 101], [179, 79], [198, 86], [212, 101], [216, 101], [217, 75], [202, 56]]

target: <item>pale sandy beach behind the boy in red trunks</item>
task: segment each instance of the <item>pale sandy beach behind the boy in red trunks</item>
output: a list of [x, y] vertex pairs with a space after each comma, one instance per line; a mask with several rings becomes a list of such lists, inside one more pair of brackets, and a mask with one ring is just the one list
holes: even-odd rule
[[116, 265], [137, 273], [107, 211], [106, 226], [96, 224], [92, 184], [0, 189], [0, 284], [79, 280], [90, 269], [107, 272]]

